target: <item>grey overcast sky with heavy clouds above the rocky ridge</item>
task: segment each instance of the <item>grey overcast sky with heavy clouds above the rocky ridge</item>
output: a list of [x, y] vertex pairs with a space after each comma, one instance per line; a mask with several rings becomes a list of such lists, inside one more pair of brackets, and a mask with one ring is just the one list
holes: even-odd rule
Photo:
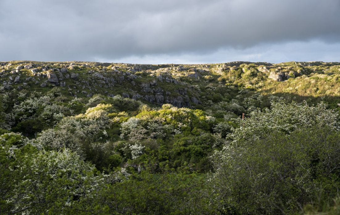
[[340, 0], [0, 0], [0, 61], [340, 61]]

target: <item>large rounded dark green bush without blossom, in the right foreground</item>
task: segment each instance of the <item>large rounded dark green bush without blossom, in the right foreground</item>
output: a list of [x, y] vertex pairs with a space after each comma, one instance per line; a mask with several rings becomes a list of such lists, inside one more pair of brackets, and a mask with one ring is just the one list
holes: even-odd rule
[[251, 214], [295, 213], [310, 202], [329, 207], [340, 185], [339, 138], [329, 127], [312, 127], [229, 146], [211, 179], [216, 203]]

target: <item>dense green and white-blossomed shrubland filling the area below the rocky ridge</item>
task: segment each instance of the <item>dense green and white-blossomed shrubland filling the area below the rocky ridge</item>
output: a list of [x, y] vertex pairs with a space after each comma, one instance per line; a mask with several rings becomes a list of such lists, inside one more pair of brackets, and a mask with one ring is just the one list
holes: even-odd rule
[[338, 214], [338, 97], [256, 90], [257, 67], [201, 77], [190, 108], [0, 89], [0, 214]]

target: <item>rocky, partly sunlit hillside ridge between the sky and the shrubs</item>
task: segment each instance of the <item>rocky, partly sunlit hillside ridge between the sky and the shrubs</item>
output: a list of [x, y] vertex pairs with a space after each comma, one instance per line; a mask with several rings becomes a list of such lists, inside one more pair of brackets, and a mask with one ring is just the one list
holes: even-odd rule
[[[209, 106], [232, 91], [338, 96], [337, 62], [228, 62], [139, 65], [97, 62], [0, 62], [1, 91], [61, 88], [65, 95], [121, 95], [154, 105]], [[223, 88], [223, 89], [222, 89]], [[237, 88], [237, 89], [236, 89]], [[222, 91], [222, 92], [218, 92]], [[219, 95], [217, 95], [219, 94]]]

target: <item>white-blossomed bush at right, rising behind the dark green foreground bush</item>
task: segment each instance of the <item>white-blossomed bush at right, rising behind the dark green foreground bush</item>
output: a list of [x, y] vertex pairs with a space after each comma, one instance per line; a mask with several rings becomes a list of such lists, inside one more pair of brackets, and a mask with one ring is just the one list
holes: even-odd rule
[[327, 105], [319, 103], [316, 106], [308, 106], [307, 102], [297, 104], [284, 104], [283, 102], [273, 102], [271, 109], [264, 111], [253, 111], [250, 118], [234, 119], [239, 125], [238, 128], [232, 129], [228, 139], [233, 143], [238, 140], [256, 139], [264, 133], [275, 130], [290, 133], [297, 127], [311, 126], [330, 126], [335, 130], [340, 129], [339, 114], [334, 110], [327, 109]]

